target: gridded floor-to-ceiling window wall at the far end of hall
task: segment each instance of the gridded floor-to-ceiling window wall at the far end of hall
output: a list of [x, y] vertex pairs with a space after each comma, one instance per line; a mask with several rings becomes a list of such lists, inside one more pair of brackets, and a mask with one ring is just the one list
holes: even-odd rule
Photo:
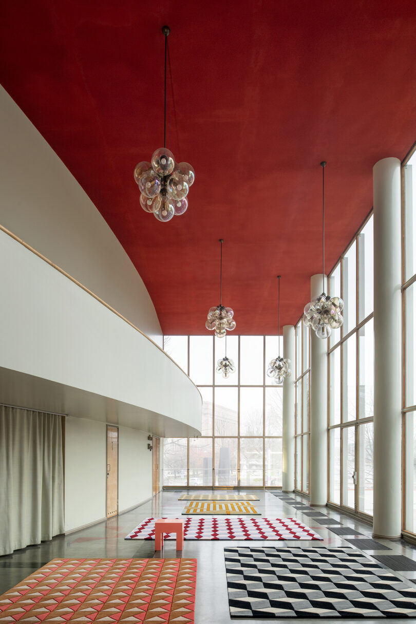
[[[227, 379], [216, 373], [225, 347], [236, 368]], [[281, 486], [283, 388], [266, 374], [278, 337], [165, 336], [164, 349], [200, 389], [203, 409], [201, 437], [164, 440], [163, 485]]]

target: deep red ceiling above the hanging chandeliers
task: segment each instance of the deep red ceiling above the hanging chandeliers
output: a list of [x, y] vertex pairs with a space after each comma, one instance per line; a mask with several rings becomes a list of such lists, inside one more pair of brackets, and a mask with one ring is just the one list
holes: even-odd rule
[[[163, 144], [195, 168], [188, 212], [143, 212], [133, 168]], [[416, 139], [414, 0], [6, 0], [0, 82], [88, 193], [137, 267], [164, 333], [276, 333], [309, 301], [372, 206], [372, 167]], [[173, 105], [174, 104], [174, 105]], [[176, 112], [175, 112], [176, 111]]]

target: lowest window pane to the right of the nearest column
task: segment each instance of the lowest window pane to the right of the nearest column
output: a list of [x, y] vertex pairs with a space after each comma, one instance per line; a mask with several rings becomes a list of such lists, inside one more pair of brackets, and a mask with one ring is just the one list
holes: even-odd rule
[[405, 520], [404, 528], [416, 533], [416, 412], [405, 416]]

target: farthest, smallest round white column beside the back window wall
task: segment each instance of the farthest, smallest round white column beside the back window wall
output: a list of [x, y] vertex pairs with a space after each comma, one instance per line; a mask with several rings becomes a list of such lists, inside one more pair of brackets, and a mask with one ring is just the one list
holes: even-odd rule
[[283, 326], [283, 357], [291, 361], [292, 374], [283, 382], [283, 492], [294, 490], [294, 325]]

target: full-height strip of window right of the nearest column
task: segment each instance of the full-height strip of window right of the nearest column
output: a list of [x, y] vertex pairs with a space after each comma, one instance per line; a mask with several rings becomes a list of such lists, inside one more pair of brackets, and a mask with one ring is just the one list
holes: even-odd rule
[[416, 534], [416, 152], [402, 167], [403, 431], [405, 531]]

